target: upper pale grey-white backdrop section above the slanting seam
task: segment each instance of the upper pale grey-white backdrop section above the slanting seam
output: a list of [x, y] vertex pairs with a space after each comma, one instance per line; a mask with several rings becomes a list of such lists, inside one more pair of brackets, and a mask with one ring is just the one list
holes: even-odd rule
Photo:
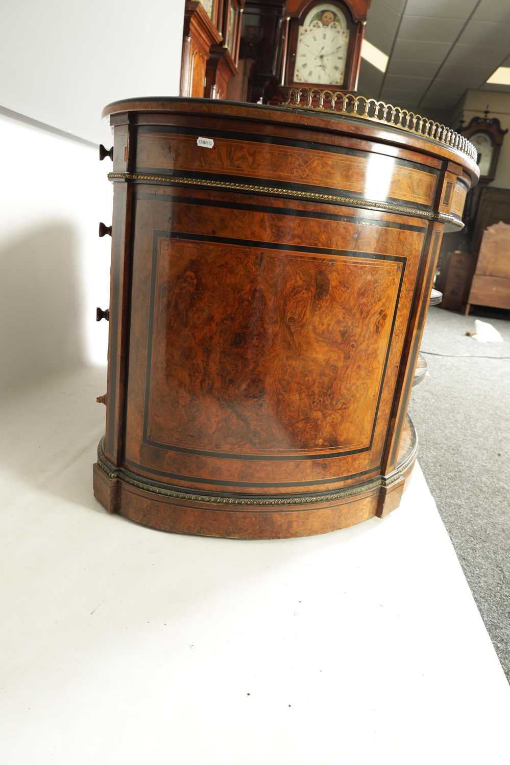
[[103, 106], [176, 96], [185, 0], [2, 0], [0, 105], [97, 143]]

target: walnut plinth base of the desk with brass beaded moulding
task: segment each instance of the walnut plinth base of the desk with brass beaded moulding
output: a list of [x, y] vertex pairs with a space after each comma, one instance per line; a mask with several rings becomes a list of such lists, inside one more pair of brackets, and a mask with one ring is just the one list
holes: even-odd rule
[[322, 494], [248, 496], [185, 491], [149, 481], [106, 461], [102, 442], [93, 466], [94, 495], [110, 513], [153, 529], [233, 539], [286, 539], [384, 517], [400, 504], [417, 454], [407, 418], [397, 469], [387, 476]]

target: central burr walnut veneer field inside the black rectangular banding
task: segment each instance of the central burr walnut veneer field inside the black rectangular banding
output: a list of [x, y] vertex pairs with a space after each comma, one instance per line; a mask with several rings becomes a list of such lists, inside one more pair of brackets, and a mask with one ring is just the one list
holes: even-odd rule
[[182, 236], [155, 235], [146, 441], [252, 455], [369, 448], [404, 258]]

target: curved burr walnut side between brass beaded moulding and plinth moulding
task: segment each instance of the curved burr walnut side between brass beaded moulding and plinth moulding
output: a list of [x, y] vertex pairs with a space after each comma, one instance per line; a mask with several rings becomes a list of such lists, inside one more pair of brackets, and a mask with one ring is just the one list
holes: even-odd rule
[[[380, 470], [427, 223], [409, 218], [404, 224], [397, 222], [397, 216], [381, 213], [366, 211], [361, 216], [349, 208], [335, 207], [332, 212], [322, 204], [297, 204], [138, 187], [132, 264], [136, 308], [131, 318], [126, 418], [126, 457], [131, 467], [152, 477], [167, 477], [172, 483], [198, 487], [220, 480], [230, 488], [242, 485], [244, 490], [259, 493], [270, 493], [276, 486], [284, 491], [289, 484], [338, 487], [351, 480], [351, 475]], [[221, 233], [228, 236], [218, 236]], [[188, 262], [192, 262], [193, 272], [185, 269]], [[164, 269], [171, 277], [170, 288]], [[366, 291], [365, 276], [370, 285]], [[185, 287], [176, 287], [177, 278]], [[308, 296], [305, 301], [309, 288], [313, 288], [312, 300]], [[342, 306], [337, 303], [340, 291], [345, 296]], [[374, 300], [377, 293], [379, 303]], [[172, 298], [172, 307], [165, 303], [164, 295]], [[188, 307], [185, 319], [178, 295], [186, 295], [193, 309]], [[289, 314], [290, 321], [285, 321], [293, 300], [299, 311], [305, 311], [306, 322], [298, 323], [302, 317], [297, 308], [296, 315]], [[158, 323], [160, 314], [172, 315], [172, 330]], [[185, 326], [187, 321], [194, 322], [191, 328]], [[381, 336], [377, 351], [368, 349], [368, 327]], [[185, 339], [181, 340], [183, 334]], [[172, 340], [162, 344], [161, 337]], [[175, 358], [177, 353], [190, 353], [191, 337], [195, 338], [193, 358]], [[173, 360], [168, 367], [167, 357]], [[282, 374], [287, 357], [288, 366], [294, 366]], [[303, 371], [309, 374], [305, 383]], [[320, 402], [313, 411], [309, 389], [312, 376], [317, 385], [315, 401]], [[198, 381], [204, 379], [209, 385], [212, 379], [216, 381], [211, 391], [198, 389]], [[234, 382], [229, 384], [229, 379]], [[253, 383], [247, 385], [247, 380], [258, 381], [258, 389]], [[264, 387], [268, 380], [270, 402]], [[338, 401], [342, 388], [345, 399]], [[222, 396], [233, 395], [237, 400], [222, 401]], [[183, 403], [187, 396], [193, 398], [186, 407], [176, 409], [175, 396]], [[345, 407], [347, 399], [351, 405], [356, 399], [358, 414], [351, 412], [356, 428], [348, 425], [345, 409], [343, 417], [336, 409]], [[336, 432], [342, 438], [343, 418], [347, 422], [343, 438], [351, 428], [351, 441], [339, 440], [329, 446], [327, 438], [332, 433], [319, 434], [319, 409], [324, 409], [326, 422], [328, 400], [329, 427], [336, 418]], [[275, 401], [282, 402], [280, 415], [285, 415], [287, 423], [299, 414], [299, 407], [301, 412], [308, 410], [296, 421], [298, 431], [301, 428], [302, 435], [308, 433], [307, 446], [298, 443], [289, 450], [289, 434], [282, 430]], [[155, 420], [154, 412], [159, 412]], [[184, 438], [185, 419], [177, 422], [175, 418], [186, 412], [212, 428], [209, 434], [202, 426], [197, 428], [193, 444], [174, 440]], [[216, 430], [218, 423], [222, 435]], [[315, 428], [316, 438], [322, 441], [314, 448], [310, 428]], [[242, 431], [252, 442], [241, 448], [230, 439]], [[262, 443], [257, 448], [253, 444], [257, 432], [269, 434], [266, 451]], [[280, 432], [277, 445], [276, 432]], [[199, 436], [206, 435], [207, 441], [198, 442]], [[212, 435], [219, 442], [228, 440], [223, 450], [214, 444]], [[362, 442], [360, 436], [365, 435], [368, 438]], [[296, 438], [293, 433], [290, 436]], [[262, 485], [261, 471], [271, 487]]]

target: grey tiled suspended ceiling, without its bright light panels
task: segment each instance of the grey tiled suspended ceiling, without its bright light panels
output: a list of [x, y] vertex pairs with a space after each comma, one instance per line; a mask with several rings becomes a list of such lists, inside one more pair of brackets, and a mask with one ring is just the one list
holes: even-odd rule
[[371, 0], [365, 34], [391, 53], [385, 76], [361, 63], [365, 96], [381, 90], [384, 101], [427, 115], [456, 108], [466, 90], [510, 92], [486, 84], [510, 67], [510, 0]]

